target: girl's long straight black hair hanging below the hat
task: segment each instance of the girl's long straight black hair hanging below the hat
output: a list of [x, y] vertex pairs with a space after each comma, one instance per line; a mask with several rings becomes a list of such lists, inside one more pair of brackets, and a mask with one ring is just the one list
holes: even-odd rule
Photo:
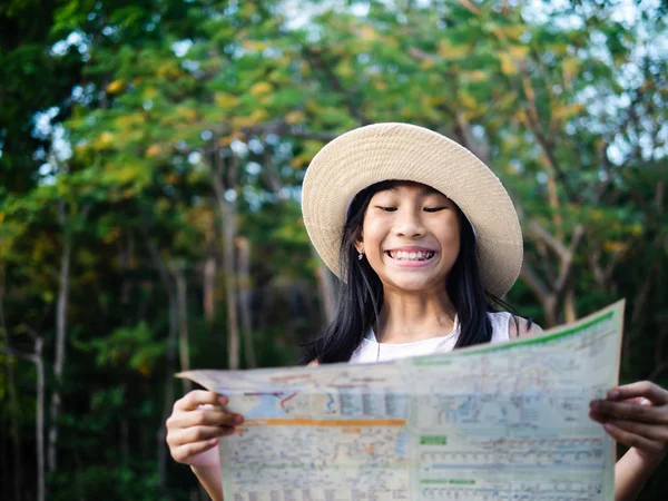
[[[357, 259], [355, 242], [362, 232], [362, 223], [371, 198], [400, 183], [376, 183], [353, 198], [341, 240], [338, 269], [342, 281], [336, 315], [316, 340], [305, 345], [302, 363], [347, 362], [369, 330], [377, 326], [383, 305], [383, 284], [366, 259]], [[509, 308], [508, 304], [484, 289], [475, 257], [473, 228], [459, 207], [456, 210], [461, 228], [460, 252], [444, 284], [460, 324], [455, 348], [490, 342], [492, 324], [487, 313], [495, 311], [492, 303]]]

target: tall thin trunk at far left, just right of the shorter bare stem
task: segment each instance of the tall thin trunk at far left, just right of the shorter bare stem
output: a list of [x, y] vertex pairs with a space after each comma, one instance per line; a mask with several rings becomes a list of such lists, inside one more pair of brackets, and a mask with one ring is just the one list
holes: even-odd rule
[[65, 366], [65, 348], [67, 336], [67, 307], [69, 301], [69, 269], [71, 259], [71, 233], [67, 227], [65, 202], [58, 203], [58, 216], [62, 228], [62, 253], [60, 255], [60, 288], [58, 291], [58, 305], [56, 308], [56, 360], [53, 362], [53, 376], [56, 387], [51, 394], [50, 425], [49, 425], [49, 472], [57, 470], [58, 448], [58, 419], [60, 416], [60, 386]]

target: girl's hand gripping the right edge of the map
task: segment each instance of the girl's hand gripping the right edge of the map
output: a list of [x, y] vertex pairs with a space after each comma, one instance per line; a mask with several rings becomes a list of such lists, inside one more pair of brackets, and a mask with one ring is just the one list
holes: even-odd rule
[[589, 416], [651, 463], [668, 453], [668, 391], [655, 383], [641, 381], [610, 390], [606, 400], [591, 401]]

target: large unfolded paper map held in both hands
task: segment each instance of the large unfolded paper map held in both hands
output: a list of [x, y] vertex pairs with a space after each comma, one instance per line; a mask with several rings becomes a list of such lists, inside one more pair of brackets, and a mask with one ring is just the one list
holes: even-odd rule
[[179, 374], [246, 421], [226, 501], [611, 501], [623, 302], [501, 344], [373, 364]]

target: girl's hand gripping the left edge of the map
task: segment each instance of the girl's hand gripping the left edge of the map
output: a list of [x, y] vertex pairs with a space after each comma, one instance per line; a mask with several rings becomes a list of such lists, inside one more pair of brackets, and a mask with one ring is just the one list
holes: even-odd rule
[[167, 444], [175, 461], [219, 468], [218, 438], [233, 434], [244, 422], [242, 415], [227, 412], [226, 404], [226, 396], [202, 390], [176, 401], [167, 420]]

